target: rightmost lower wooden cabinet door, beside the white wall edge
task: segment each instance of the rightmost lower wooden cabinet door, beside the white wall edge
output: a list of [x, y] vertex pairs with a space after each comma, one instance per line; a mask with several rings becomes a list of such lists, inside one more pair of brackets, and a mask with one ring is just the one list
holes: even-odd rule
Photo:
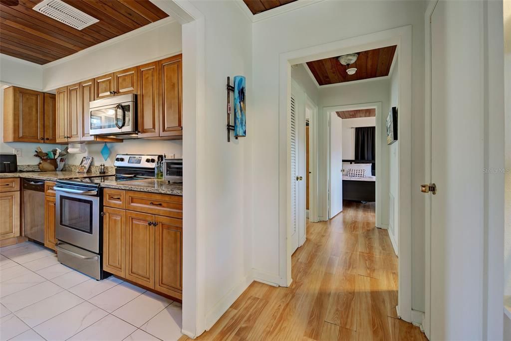
[[155, 216], [155, 285], [162, 293], [181, 298], [182, 293], [182, 220]]

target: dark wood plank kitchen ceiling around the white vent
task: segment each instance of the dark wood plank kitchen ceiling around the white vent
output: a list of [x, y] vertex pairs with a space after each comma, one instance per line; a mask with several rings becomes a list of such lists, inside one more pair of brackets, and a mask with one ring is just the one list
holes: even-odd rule
[[0, 53], [46, 64], [168, 17], [149, 0], [63, 0], [100, 20], [80, 31], [34, 11], [41, 1], [0, 2]]

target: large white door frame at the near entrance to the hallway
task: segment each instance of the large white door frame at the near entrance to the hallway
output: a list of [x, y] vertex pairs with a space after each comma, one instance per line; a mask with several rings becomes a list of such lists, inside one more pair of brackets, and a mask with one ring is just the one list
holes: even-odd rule
[[412, 112], [412, 27], [411, 25], [384, 30], [363, 36], [314, 45], [282, 53], [279, 58], [279, 275], [280, 285], [289, 286], [291, 277], [291, 238], [287, 209], [290, 186], [287, 174], [290, 165], [288, 152], [289, 98], [291, 90], [291, 65], [313, 60], [397, 45], [399, 68], [399, 293], [398, 314], [405, 321], [412, 321], [412, 233], [411, 233], [411, 112]]

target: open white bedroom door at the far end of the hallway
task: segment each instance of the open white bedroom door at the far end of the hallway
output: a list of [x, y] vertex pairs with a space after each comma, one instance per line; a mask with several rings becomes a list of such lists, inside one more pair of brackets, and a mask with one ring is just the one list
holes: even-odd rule
[[342, 211], [342, 119], [330, 113], [330, 210], [329, 218]]

